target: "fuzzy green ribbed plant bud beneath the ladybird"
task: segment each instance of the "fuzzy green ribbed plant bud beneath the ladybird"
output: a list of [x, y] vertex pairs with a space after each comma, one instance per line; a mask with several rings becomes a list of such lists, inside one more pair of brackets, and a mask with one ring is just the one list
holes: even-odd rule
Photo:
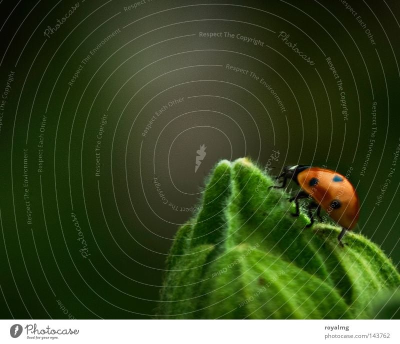
[[360, 234], [348, 232], [341, 247], [339, 227], [306, 228], [273, 184], [246, 158], [215, 166], [201, 210], [169, 252], [159, 318], [378, 317], [377, 296], [400, 286], [390, 260]]

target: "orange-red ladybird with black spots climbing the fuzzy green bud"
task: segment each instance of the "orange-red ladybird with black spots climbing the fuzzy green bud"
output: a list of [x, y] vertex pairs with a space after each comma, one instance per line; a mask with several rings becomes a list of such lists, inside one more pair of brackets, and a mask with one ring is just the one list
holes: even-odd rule
[[298, 200], [310, 197], [313, 202], [309, 204], [308, 213], [310, 224], [314, 223], [312, 208], [316, 207], [316, 214], [320, 218], [321, 208], [342, 227], [337, 237], [339, 244], [347, 230], [355, 227], [359, 215], [359, 199], [352, 184], [346, 177], [340, 173], [321, 167], [312, 167], [307, 165], [285, 166], [276, 179], [282, 179], [281, 185], [275, 185], [274, 188], [284, 188], [287, 181], [293, 180], [300, 186], [301, 190], [289, 199], [296, 205], [298, 216]]

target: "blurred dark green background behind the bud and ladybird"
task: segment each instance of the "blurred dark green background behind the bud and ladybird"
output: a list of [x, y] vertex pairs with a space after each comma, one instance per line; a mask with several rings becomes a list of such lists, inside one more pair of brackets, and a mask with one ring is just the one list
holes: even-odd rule
[[[125, 11], [132, 2], [80, 0], [47, 38], [44, 29], [75, 1], [1, 1], [1, 94], [15, 72], [0, 131], [2, 318], [151, 317], [171, 239], [190, 217], [180, 207], [197, 204], [203, 178], [219, 159], [249, 156], [263, 167], [273, 150], [280, 152], [276, 167], [325, 164], [342, 173], [352, 167], [361, 200], [358, 230], [400, 262], [400, 165], [374, 205], [400, 136], [398, 1], [351, 1], [375, 45], [339, 0], [204, 2], [146, 0]], [[69, 86], [80, 61], [118, 28]], [[313, 66], [277, 37], [282, 30]], [[200, 31], [241, 33], [264, 46], [203, 38]], [[347, 121], [327, 56], [343, 81]], [[226, 64], [263, 77], [286, 112], [258, 81]], [[179, 97], [184, 101], [141, 136], [154, 112]], [[377, 132], [360, 176], [372, 101]], [[206, 157], [194, 173], [201, 144]], [[23, 197], [26, 148], [31, 225]], [[154, 177], [177, 211], [162, 203]]]

